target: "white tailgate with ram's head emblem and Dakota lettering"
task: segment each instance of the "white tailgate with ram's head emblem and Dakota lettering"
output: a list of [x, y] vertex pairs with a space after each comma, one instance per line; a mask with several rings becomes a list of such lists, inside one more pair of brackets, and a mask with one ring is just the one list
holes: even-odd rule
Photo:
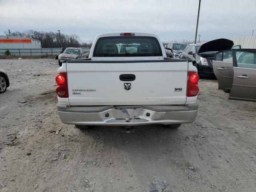
[[[67, 61], [66, 69], [70, 106], [186, 103], [186, 60]], [[122, 81], [122, 74], [136, 78]]]

